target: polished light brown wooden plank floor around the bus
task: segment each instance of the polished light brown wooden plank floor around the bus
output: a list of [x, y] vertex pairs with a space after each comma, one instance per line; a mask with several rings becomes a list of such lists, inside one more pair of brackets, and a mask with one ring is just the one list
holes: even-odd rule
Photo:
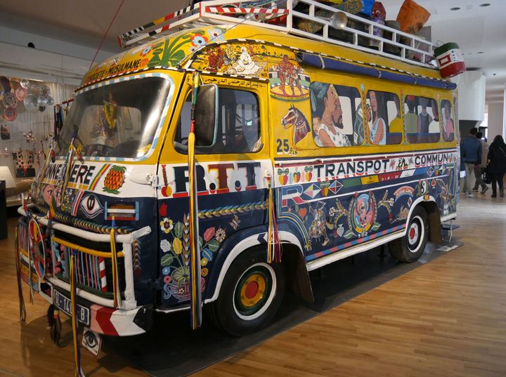
[[[194, 376], [506, 376], [506, 199], [476, 194], [458, 215], [460, 249]], [[0, 376], [73, 376], [44, 300], [18, 322], [12, 245], [0, 241]], [[82, 364], [88, 376], [145, 376], [115, 355], [83, 351]]]

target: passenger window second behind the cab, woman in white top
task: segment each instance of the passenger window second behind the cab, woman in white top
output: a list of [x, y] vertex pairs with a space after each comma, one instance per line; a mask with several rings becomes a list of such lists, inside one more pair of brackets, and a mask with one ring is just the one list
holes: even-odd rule
[[398, 95], [368, 91], [366, 107], [370, 143], [373, 145], [400, 144], [402, 119]]

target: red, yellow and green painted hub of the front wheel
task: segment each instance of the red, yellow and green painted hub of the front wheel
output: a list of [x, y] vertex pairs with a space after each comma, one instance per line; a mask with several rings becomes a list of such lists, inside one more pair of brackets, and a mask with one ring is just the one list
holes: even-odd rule
[[245, 272], [235, 289], [234, 302], [241, 315], [253, 315], [266, 303], [272, 289], [272, 279], [264, 267]]

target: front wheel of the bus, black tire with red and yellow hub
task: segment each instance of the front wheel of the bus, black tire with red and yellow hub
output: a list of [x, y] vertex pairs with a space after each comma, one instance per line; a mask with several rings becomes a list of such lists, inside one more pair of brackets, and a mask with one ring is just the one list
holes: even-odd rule
[[235, 258], [218, 298], [210, 303], [213, 322], [233, 336], [264, 327], [278, 311], [285, 292], [285, 267], [266, 263], [266, 250], [255, 248]]

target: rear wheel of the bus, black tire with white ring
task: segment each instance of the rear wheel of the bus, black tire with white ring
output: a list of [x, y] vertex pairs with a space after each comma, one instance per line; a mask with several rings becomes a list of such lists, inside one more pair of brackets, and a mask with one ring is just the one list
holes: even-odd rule
[[413, 263], [422, 256], [429, 237], [427, 212], [417, 206], [411, 214], [406, 235], [389, 242], [390, 255], [404, 263]]

